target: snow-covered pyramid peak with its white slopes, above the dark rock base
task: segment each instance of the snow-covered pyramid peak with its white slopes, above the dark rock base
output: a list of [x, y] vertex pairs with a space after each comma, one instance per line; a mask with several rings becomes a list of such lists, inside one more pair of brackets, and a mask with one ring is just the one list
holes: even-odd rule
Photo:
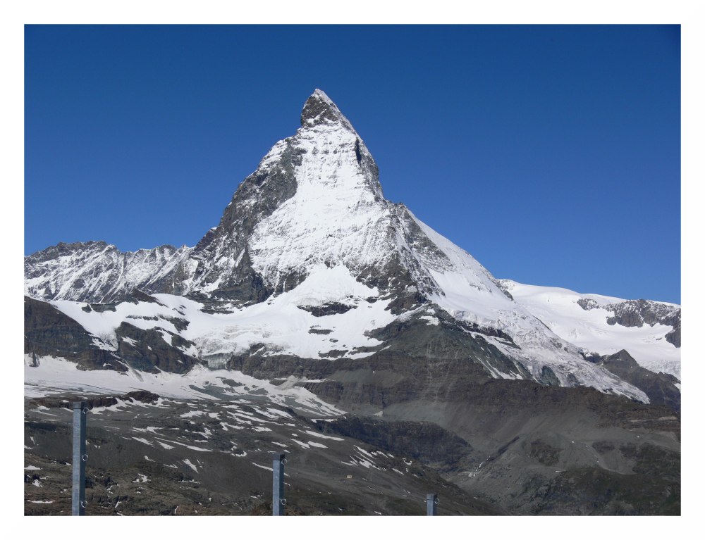
[[[87, 327], [97, 315], [66, 301], [120, 301], [132, 287], [189, 296], [160, 300], [172, 310], [188, 304], [187, 328], [160, 321], [142, 328], [178, 334], [204, 360], [255, 345], [260, 356], [360, 358], [384, 346], [372, 333], [396, 318], [437, 325], [441, 308], [464, 325], [458, 332], [479, 330], [506, 358], [500, 369], [472, 356], [493, 377], [589, 385], [648, 401], [504, 294], [469, 253], [386, 201], [372, 155], [324, 92], [309, 97], [301, 123], [194, 248], [119, 253], [104, 243], [60, 244], [25, 258], [25, 291]], [[209, 310], [221, 313], [203, 315]], [[122, 322], [111, 320], [108, 334]]]

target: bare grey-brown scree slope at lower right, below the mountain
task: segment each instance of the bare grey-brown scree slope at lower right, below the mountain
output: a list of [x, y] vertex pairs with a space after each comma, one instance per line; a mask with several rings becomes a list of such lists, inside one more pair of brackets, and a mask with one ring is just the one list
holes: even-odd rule
[[[342, 406], [342, 405], [341, 405]], [[350, 408], [348, 408], [350, 410]], [[546, 387], [492, 379], [465, 387], [453, 401], [384, 408], [388, 420], [435, 422], [472, 446], [444, 476], [521, 515], [650, 515], [680, 511], [678, 467], [635, 477], [624, 444], [649, 444], [651, 460], [680, 455], [673, 409], [588, 388]], [[577, 475], [577, 476], [575, 476]], [[590, 479], [599, 482], [584, 489]], [[635, 491], [630, 491], [632, 487]], [[599, 496], [598, 495], [599, 492]]]

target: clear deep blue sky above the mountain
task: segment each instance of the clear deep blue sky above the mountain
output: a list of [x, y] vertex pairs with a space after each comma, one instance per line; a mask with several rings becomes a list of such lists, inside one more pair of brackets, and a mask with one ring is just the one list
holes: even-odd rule
[[678, 26], [27, 26], [25, 254], [195, 245], [314, 88], [496, 277], [680, 303]]

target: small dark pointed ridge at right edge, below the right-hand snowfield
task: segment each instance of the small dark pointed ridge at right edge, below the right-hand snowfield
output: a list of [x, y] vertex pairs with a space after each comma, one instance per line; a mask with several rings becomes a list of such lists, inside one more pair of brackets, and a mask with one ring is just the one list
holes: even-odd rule
[[635, 387], [644, 391], [649, 401], [667, 405], [680, 411], [680, 390], [675, 387], [678, 379], [668, 373], [654, 373], [642, 368], [627, 351], [602, 357], [600, 365]]

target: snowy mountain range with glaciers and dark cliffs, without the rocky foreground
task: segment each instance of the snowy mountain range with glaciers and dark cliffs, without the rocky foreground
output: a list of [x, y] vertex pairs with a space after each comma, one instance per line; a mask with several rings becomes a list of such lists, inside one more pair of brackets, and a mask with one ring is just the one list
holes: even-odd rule
[[[296, 134], [266, 153], [196, 246], [122, 253], [102, 241], [59, 244], [25, 258], [25, 294], [33, 397], [144, 389], [430, 422], [490, 457], [507, 443], [492, 467], [534, 448], [512, 437], [568, 451], [565, 434], [554, 440], [531, 422], [505, 440], [501, 426], [517, 427], [527, 411], [550, 424], [570, 403], [572, 420], [591, 426], [572, 437], [594, 437], [628, 426], [625, 415], [673, 432], [680, 410], [679, 306], [496, 280], [384, 199], [372, 154], [320, 90]], [[629, 358], [608, 358], [623, 349]], [[657, 368], [666, 378], [654, 386], [647, 375]], [[481, 410], [501, 423], [489, 429]], [[357, 437], [379, 431], [364, 422]], [[482, 466], [467, 459], [453, 467]], [[468, 482], [477, 475], [458, 485]], [[533, 512], [527, 504], [515, 509]]]

